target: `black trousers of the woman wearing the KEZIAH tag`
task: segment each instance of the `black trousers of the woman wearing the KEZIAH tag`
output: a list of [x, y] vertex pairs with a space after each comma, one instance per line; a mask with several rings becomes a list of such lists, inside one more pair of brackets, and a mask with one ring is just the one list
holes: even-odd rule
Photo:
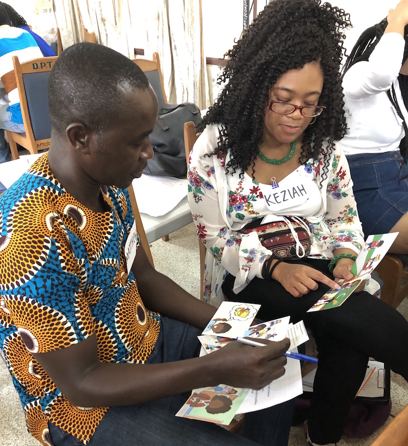
[[[329, 275], [327, 261], [306, 262]], [[408, 322], [371, 294], [354, 293], [340, 307], [307, 313], [327, 291], [326, 285], [294, 298], [279, 282], [258, 278], [235, 294], [234, 280], [228, 275], [222, 285], [228, 300], [261, 304], [257, 316], [264, 320], [288, 315], [294, 323], [303, 319], [313, 332], [319, 352], [308, 422], [313, 442], [340, 440], [369, 357], [385, 362], [408, 381]]]

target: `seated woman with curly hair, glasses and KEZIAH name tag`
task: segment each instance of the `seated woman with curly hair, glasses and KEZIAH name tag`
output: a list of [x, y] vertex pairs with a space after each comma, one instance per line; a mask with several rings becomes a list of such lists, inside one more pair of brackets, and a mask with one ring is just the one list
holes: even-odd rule
[[[362, 291], [307, 312], [338, 279], [353, 278], [364, 244], [336, 142], [346, 132], [340, 64], [349, 25], [320, 0], [270, 2], [228, 51], [226, 85], [189, 160], [189, 204], [207, 248], [205, 298], [258, 303], [260, 318], [290, 315], [313, 331], [318, 369], [305, 422], [313, 445], [340, 440], [369, 356], [408, 379], [408, 323], [384, 302]], [[264, 217], [310, 228], [310, 246], [294, 237], [294, 259], [266, 249], [247, 230]]]

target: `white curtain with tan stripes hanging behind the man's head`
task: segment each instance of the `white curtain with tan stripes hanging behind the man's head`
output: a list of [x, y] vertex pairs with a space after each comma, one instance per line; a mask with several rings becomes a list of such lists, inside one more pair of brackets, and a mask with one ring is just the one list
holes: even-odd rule
[[132, 59], [135, 46], [146, 59], [158, 52], [168, 102], [210, 105], [201, 0], [53, 0], [53, 6], [64, 48], [82, 41], [85, 27]]

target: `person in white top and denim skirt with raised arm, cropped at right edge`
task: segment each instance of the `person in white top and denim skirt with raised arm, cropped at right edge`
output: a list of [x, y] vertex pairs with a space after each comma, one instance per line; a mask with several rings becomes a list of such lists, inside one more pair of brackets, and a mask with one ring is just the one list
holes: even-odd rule
[[390, 252], [408, 253], [408, 0], [358, 39], [343, 69], [350, 166], [363, 231], [399, 232]]

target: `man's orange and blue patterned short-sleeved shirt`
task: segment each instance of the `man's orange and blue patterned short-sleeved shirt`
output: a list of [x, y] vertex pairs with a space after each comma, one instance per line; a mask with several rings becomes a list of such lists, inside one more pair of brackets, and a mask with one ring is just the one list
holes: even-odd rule
[[45, 445], [48, 420], [87, 444], [108, 407], [71, 405], [31, 353], [95, 333], [100, 361], [143, 363], [160, 331], [160, 315], [145, 309], [127, 274], [129, 195], [101, 193], [108, 211], [81, 205], [44, 154], [0, 197], [0, 346], [28, 429]]

